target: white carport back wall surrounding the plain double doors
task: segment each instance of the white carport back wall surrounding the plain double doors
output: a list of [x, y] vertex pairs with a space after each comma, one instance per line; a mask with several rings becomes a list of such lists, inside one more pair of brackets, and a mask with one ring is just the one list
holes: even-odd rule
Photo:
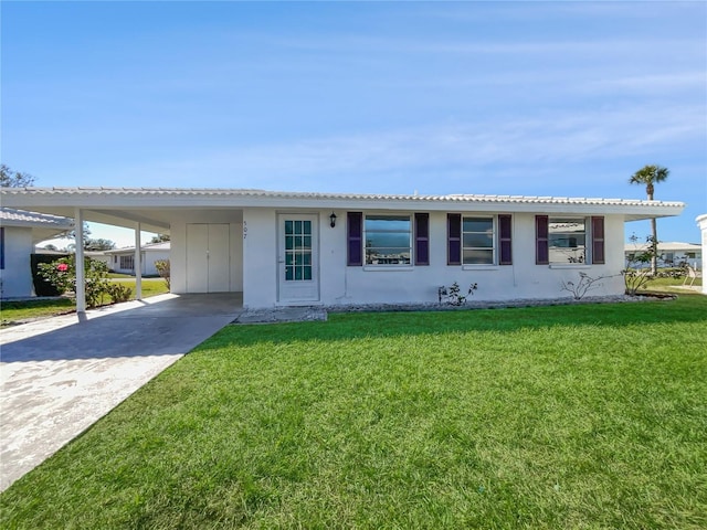
[[170, 220], [170, 286], [176, 294], [187, 293], [187, 225], [192, 223], [229, 224], [230, 292], [243, 290], [243, 223], [240, 210], [188, 210]]

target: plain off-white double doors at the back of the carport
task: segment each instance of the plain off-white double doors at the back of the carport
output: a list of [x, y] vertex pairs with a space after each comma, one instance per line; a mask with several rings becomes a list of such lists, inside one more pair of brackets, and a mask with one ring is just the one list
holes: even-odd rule
[[187, 225], [187, 293], [225, 293], [231, 284], [228, 224]]

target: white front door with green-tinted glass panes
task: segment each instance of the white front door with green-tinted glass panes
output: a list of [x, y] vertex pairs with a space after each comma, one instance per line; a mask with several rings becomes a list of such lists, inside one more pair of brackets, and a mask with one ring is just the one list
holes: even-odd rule
[[278, 215], [277, 287], [281, 303], [319, 300], [317, 215]]

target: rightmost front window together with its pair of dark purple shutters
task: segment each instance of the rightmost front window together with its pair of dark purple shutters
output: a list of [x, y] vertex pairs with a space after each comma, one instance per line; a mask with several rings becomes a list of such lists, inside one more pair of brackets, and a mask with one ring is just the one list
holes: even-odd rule
[[535, 223], [536, 264], [604, 263], [604, 218], [536, 215]]

